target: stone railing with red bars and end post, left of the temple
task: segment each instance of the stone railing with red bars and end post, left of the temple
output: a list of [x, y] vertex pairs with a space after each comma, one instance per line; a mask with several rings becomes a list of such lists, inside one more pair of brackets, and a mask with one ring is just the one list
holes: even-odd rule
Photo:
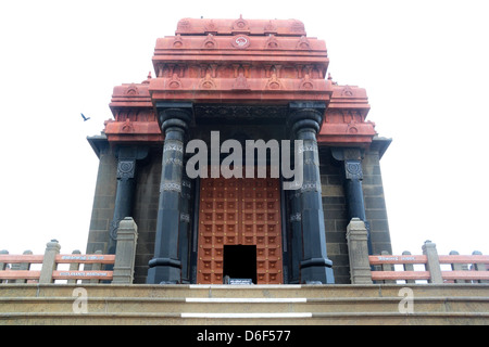
[[[7, 250], [0, 250], [0, 283], [57, 283], [64, 280], [74, 284], [82, 280], [87, 283], [111, 281], [130, 284], [136, 242], [137, 226], [133, 218], [128, 217], [118, 224], [115, 255], [103, 255], [101, 250], [86, 255], [79, 250], [60, 254], [61, 246], [57, 240], [47, 244], [43, 255], [34, 255], [30, 250], [24, 252], [23, 255], [9, 255]], [[68, 264], [70, 268], [61, 270], [62, 264]], [[33, 265], [40, 265], [40, 269], [36, 270]], [[111, 268], [113, 266], [113, 270], [101, 270], [102, 265], [109, 265]]]

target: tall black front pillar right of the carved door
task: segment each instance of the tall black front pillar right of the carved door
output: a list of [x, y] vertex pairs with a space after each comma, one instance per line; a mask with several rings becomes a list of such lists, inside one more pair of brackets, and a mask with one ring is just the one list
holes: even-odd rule
[[288, 123], [297, 140], [303, 141], [303, 182], [301, 202], [301, 283], [334, 283], [333, 262], [326, 253], [319, 157], [316, 134], [326, 105], [322, 102], [292, 102]]

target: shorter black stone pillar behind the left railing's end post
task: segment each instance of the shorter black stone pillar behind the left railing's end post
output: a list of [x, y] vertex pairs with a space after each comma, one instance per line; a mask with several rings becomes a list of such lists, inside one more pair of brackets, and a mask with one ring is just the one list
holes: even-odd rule
[[115, 254], [118, 222], [125, 217], [133, 217], [133, 201], [136, 188], [137, 160], [146, 158], [146, 146], [120, 146], [116, 150], [117, 191], [115, 193], [114, 216], [109, 231], [108, 253]]

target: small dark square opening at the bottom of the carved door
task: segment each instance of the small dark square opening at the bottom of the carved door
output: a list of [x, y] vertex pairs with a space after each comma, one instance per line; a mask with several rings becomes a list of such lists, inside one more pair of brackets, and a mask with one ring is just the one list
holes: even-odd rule
[[256, 284], [256, 246], [225, 245], [223, 277], [251, 279]]

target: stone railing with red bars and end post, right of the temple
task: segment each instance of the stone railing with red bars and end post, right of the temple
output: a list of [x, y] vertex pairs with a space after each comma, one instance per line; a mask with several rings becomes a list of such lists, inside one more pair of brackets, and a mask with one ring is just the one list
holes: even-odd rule
[[[438, 255], [436, 244], [426, 241], [423, 255], [368, 256], [367, 231], [365, 223], [353, 218], [347, 229], [347, 240], [350, 255], [350, 277], [352, 284], [367, 283], [489, 283], [489, 256], [480, 252], [472, 255]], [[396, 269], [402, 266], [402, 269]], [[418, 270], [415, 269], [421, 268]], [[401, 282], [398, 282], [401, 281]]]

